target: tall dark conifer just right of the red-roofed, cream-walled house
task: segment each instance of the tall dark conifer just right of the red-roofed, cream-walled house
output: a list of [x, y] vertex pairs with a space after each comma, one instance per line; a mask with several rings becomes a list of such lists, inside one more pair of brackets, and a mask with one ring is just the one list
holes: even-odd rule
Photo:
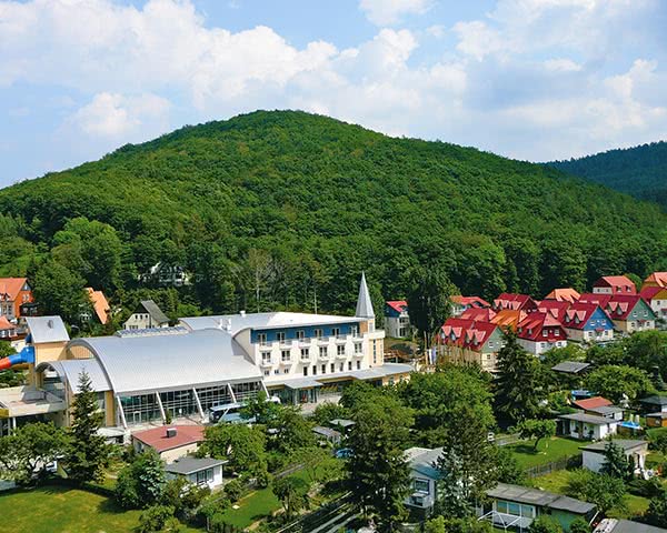
[[545, 398], [539, 362], [524, 350], [511, 331], [505, 333], [505, 346], [498, 352], [496, 409], [511, 423], [535, 419]]

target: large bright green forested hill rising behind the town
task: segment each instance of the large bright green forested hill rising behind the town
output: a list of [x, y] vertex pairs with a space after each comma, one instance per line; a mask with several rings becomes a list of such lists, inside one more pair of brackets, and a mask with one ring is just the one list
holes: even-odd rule
[[310, 309], [316, 291], [320, 311], [349, 311], [361, 270], [379, 302], [405, 295], [418, 264], [485, 298], [667, 270], [667, 217], [650, 204], [292, 111], [126, 145], [0, 191], [0, 210], [6, 275], [51, 292], [72, 275], [122, 300], [150, 265], [180, 263], [195, 285], [179, 298], [217, 312]]

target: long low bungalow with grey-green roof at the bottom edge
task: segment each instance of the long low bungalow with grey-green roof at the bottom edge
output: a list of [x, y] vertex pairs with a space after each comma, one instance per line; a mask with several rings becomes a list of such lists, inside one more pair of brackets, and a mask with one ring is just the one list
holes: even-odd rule
[[487, 520], [506, 531], [511, 527], [527, 532], [537, 516], [546, 514], [557, 521], [563, 531], [569, 532], [575, 520], [583, 519], [590, 524], [597, 514], [593, 503], [508, 483], [498, 483], [487, 491], [487, 496], [489, 503], [477, 509], [479, 520]]

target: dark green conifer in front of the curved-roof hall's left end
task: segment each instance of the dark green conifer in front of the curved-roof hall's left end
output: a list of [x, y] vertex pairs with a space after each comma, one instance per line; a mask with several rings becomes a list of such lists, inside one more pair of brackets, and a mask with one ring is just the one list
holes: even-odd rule
[[109, 446], [98, 433], [103, 421], [90, 376], [81, 372], [79, 393], [72, 403], [71, 444], [66, 456], [68, 475], [78, 483], [99, 481], [109, 463]]

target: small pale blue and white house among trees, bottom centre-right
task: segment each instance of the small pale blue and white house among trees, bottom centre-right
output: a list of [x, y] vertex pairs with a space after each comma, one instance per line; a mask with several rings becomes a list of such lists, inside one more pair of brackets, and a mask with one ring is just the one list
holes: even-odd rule
[[441, 474], [437, 466], [441, 447], [410, 447], [406, 450], [406, 459], [410, 467], [411, 492], [405, 504], [419, 519], [425, 519], [434, 511], [438, 500], [438, 482]]

